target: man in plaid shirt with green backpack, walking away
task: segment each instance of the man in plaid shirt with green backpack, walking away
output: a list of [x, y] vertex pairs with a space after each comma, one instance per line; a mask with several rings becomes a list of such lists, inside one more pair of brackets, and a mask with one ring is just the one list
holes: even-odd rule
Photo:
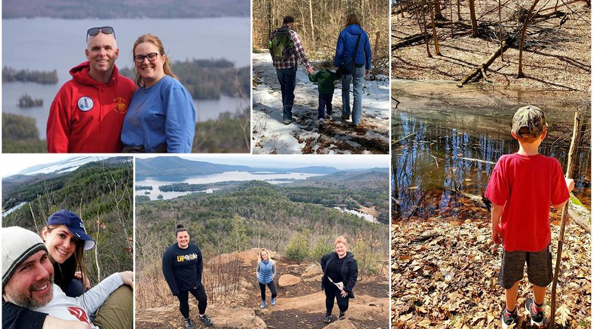
[[275, 29], [270, 36], [268, 47], [272, 55], [272, 63], [276, 68], [280, 90], [282, 92], [283, 121], [285, 125], [292, 122], [292, 103], [294, 102], [294, 87], [296, 86], [296, 60], [305, 65], [309, 73], [313, 68], [305, 56], [303, 43], [299, 34], [292, 30], [294, 17], [286, 16], [282, 27]]

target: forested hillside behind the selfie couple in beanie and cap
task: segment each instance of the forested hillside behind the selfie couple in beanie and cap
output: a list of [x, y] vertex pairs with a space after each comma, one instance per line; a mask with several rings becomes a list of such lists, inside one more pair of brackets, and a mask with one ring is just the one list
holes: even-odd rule
[[32, 184], [10, 193], [3, 191], [4, 207], [30, 202], [3, 218], [2, 226], [21, 226], [39, 232], [49, 215], [60, 209], [71, 210], [80, 216], [86, 233], [97, 243], [93, 252], [85, 253], [92, 284], [111, 273], [132, 270], [132, 162], [111, 158], [50, 176], [46, 180], [33, 179]]

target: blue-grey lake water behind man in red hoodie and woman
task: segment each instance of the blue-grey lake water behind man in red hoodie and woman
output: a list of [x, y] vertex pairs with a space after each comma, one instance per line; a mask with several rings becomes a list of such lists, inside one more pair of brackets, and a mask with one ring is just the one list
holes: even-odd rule
[[[57, 84], [10, 82], [2, 84], [2, 110], [36, 119], [40, 138], [45, 139], [49, 107], [56, 93], [71, 79], [70, 69], [86, 61], [86, 30], [96, 26], [115, 29], [118, 68], [132, 68], [132, 46], [142, 34], [158, 36], [172, 61], [220, 59], [235, 66], [251, 64], [251, 19], [224, 17], [208, 19], [3, 19], [2, 65], [21, 70], [58, 71]], [[42, 33], [50, 31], [49, 33]], [[229, 40], [229, 36], [233, 36]], [[226, 41], [229, 40], [229, 41]], [[19, 108], [19, 98], [27, 93], [43, 99], [43, 107]], [[235, 112], [235, 98], [194, 101], [200, 121], [217, 119], [221, 112]], [[196, 119], [197, 120], [197, 119]]]

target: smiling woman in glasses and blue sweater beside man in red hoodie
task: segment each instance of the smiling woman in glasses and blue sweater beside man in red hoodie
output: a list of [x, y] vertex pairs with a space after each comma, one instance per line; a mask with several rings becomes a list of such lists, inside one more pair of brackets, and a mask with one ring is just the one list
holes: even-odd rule
[[121, 128], [124, 153], [191, 153], [196, 108], [171, 70], [163, 43], [144, 34], [134, 43], [136, 84]]

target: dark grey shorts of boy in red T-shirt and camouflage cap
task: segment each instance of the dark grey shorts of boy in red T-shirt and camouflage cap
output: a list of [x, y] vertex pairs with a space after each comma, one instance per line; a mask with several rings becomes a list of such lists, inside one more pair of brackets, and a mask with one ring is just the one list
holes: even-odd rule
[[498, 284], [511, 289], [515, 282], [523, 279], [523, 267], [527, 262], [527, 278], [537, 287], [547, 287], [553, 280], [552, 245], [548, 244], [540, 252], [507, 252], [502, 248], [502, 263], [498, 274]]

